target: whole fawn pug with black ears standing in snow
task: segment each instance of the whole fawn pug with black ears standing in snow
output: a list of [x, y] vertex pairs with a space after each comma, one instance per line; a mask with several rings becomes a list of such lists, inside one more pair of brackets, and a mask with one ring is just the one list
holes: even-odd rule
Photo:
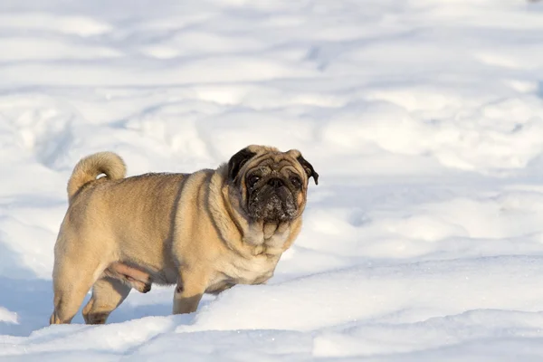
[[70, 323], [85, 295], [103, 324], [131, 289], [176, 285], [173, 313], [204, 293], [268, 281], [300, 233], [310, 177], [300, 151], [248, 146], [216, 169], [126, 176], [121, 157], [82, 158], [54, 247], [51, 324]]

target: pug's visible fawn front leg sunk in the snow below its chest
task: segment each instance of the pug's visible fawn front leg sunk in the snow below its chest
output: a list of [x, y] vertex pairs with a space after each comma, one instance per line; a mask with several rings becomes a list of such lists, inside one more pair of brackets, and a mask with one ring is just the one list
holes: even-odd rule
[[208, 273], [201, 270], [182, 270], [177, 277], [174, 295], [174, 314], [192, 313], [207, 288]]

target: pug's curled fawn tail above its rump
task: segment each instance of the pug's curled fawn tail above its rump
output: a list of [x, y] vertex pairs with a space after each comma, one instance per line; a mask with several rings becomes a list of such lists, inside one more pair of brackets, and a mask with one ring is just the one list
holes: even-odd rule
[[124, 178], [126, 173], [127, 167], [116, 153], [106, 151], [83, 157], [73, 168], [68, 181], [68, 200], [71, 200], [82, 186], [95, 181], [101, 174], [108, 180], [118, 180]]

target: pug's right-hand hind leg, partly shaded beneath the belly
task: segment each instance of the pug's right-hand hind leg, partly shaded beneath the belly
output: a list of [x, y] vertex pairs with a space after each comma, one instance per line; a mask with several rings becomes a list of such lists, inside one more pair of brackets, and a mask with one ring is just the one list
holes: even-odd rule
[[83, 308], [83, 318], [87, 324], [104, 324], [111, 311], [119, 307], [127, 298], [130, 286], [110, 277], [100, 278], [92, 287], [92, 297]]

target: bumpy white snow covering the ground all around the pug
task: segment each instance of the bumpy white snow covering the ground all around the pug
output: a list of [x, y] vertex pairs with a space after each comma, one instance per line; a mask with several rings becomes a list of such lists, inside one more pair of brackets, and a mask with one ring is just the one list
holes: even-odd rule
[[[0, 360], [540, 361], [543, 3], [2, 0]], [[266, 286], [48, 327], [71, 168], [320, 174]]]

